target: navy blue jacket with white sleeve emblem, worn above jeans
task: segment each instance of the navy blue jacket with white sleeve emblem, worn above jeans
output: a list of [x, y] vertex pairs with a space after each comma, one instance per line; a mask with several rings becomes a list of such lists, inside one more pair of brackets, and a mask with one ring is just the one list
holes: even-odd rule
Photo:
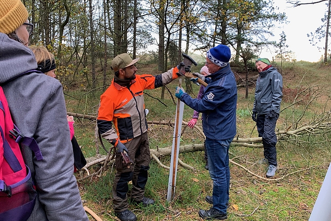
[[202, 113], [202, 128], [207, 138], [226, 140], [235, 137], [237, 83], [230, 65], [209, 75], [205, 81], [208, 85], [201, 100], [192, 99], [186, 93], [181, 100]]

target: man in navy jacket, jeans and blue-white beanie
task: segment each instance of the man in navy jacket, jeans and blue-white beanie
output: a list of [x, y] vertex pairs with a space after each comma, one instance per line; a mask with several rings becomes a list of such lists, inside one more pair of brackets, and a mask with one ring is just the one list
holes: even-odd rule
[[206, 197], [213, 207], [199, 210], [199, 216], [206, 220], [227, 219], [230, 186], [228, 151], [236, 135], [237, 107], [237, 84], [229, 65], [230, 58], [230, 48], [222, 44], [207, 52], [206, 66], [211, 74], [205, 79], [208, 85], [201, 100], [191, 98], [182, 87], [176, 90], [177, 98], [202, 113], [209, 174], [213, 180], [213, 196]]

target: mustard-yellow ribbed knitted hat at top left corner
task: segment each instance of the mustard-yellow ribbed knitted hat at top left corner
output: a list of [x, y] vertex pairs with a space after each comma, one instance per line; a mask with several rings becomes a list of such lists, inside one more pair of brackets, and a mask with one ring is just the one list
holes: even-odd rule
[[0, 32], [10, 34], [28, 19], [21, 0], [0, 0]]

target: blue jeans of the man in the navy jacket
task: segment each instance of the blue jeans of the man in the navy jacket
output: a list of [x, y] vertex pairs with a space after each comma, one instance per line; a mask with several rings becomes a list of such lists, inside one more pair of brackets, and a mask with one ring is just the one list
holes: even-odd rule
[[213, 181], [213, 207], [221, 213], [226, 213], [226, 203], [229, 201], [229, 146], [232, 140], [233, 138], [226, 140], [206, 138], [209, 174]]

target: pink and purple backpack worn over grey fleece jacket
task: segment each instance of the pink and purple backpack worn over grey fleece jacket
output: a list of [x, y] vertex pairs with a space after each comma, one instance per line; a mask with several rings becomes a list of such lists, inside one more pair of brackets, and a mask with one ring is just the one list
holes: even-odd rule
[[37, 191], [20, 146], [29, 146], [37, 160], [42, 155], [37, 141], [24, 137], [13, 123], [0, 86], [0, 221], [26, 221], [35, 206]]

